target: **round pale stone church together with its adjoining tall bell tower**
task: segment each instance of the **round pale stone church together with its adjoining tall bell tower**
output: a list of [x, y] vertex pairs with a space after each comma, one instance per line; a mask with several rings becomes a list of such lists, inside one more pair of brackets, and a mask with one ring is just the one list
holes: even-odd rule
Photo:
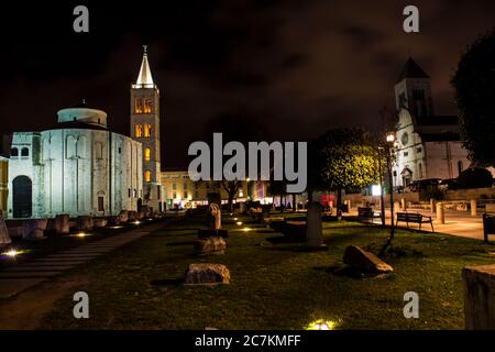
[[85, 101], [57, 116], [53, 129], [11, 138], [8, 218], [105, 217], [142, 206], [165, 210], [160, 91], [146, 52], [131, 86], [131, 136], [109, 131], [107, 113]]

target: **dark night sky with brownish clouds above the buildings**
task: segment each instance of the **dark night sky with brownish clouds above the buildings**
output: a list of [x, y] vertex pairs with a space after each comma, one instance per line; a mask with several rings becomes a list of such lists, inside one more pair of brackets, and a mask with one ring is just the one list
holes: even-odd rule
[[[84, 98], [129, 134], [146, 44], [164, 168], [187, 165], [189, 143], [210, 140], [226, 117], [260, 127], [262, 140], [377, 130], [409, 52], [432, 77], [436, 112], [455, 113], [460, 53], [495, 26], [492, 0], [16, 2], [1, 8], [0, 132], [53, 127], [57, 110]], [[88, 34], [73, 31], [77, 4], [89, 8]], [[402, 29], [407, 4], [420, 10], [419, 34]]]

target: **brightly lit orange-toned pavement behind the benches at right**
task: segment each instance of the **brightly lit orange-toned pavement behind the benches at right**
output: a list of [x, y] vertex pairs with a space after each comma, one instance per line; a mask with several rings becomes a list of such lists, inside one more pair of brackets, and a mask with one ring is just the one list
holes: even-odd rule
[[[358, 210], [352, 209], [351, 215], [358, 216]], [[402, 210], [400, 210], [402, 211]], [[437, 221], [437, 215], [435, 212], [422, 210], [422, 209], [408, 209], [408, 212], [420, 212], [425, 216], [431, 217], [433, 219], [435, 232], [448, 233], [455, 237], [469, 238], [474, 240], [483, 241], [483, 220], [482, 216], [472, 217], [468, 211], [455, 211], [446, 210], [446, 223], [441, 224]], [[391, 211], [387, 209], [385, 211], [386, 222], [391, 223]], [[380, 219], [375, 219], [374, 223], [381, 223]], [[398, 223], [399, 228], [406, 228], [405, 222]], [[410, 229], [419, 229], [419, 224], [409, 223]], [[431, 227], [429, 223], [424, 223], [421, 230], [430, 231]], [[491, 241], [495, 241], [495, 235], [490, 235]]]

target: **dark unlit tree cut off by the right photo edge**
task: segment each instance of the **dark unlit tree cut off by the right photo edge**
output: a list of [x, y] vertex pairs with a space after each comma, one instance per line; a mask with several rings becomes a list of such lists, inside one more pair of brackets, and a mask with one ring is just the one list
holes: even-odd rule
[[481, 36], [461, 56], [451, 79], [460, 110], [460, 128], [469, 157], [495, 166], [495, 31]]

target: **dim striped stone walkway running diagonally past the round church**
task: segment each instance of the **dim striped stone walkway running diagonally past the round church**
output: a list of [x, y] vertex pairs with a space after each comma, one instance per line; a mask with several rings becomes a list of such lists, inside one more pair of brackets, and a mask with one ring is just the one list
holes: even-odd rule
[[[173, 221], [167, 219], [166, 221]], [[164, 226], [163, 221], [130, 230], [110, 238], [82, 244], [42, 258], [32, 260], [0, 272], [0, 299], [12, 297], [48, 278], [141, 239]]]

